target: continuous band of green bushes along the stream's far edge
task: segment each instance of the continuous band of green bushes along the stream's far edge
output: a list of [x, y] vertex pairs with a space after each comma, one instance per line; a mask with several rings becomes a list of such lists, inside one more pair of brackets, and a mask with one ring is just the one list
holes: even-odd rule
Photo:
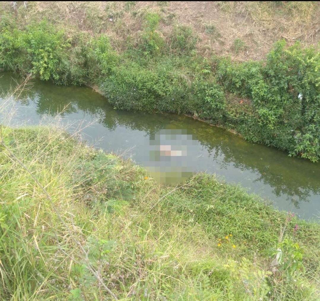
[[[191, 114], [244, 139], [312, 161], [320, 158], [320, 53], [277, 42], [264, 62], [196, 55], [191, 28], [174, 27], [167, 47], [160, 16], [145, 15], [140, 46], [121, 55], [106, 35], [68, 38], [47, 21], [19, 30], [0, 21], [0, 68], [57, 84], [100, 84], [115, 108]], [[166, 52], [167, 51], [167, 52]], [[172, 52], [179, 53], [173, 55]], [[212, 68], [214, 67], [214, 68]], [[213, 73], [214, 71], [214, 73]], [[231, 92], [246, 101], [226, 101]]]

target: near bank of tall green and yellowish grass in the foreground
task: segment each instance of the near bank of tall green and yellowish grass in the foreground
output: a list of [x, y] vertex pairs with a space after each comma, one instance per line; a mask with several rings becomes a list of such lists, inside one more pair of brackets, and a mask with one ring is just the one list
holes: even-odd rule
[[56, 126], [0, 135], [1, 301], [319, 300], [318, 222], [208, 174], [156, 183]]

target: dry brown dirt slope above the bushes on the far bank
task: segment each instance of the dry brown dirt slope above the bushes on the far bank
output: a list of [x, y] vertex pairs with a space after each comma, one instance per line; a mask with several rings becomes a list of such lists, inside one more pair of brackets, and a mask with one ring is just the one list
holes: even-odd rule
[[164, 38], [175, 25], [190, 26], [204, 56], [257, 60], [279, 39], [289, 45], [320, 40], [320, 1], [18, 1], [15, 7], [1, 1], [0, 8], [15, 11], [24, 22], [46, 17], [70, 35], [106, 33], [118, 50], [139, 39], [146, 12], [161, 16], [157, 31]]

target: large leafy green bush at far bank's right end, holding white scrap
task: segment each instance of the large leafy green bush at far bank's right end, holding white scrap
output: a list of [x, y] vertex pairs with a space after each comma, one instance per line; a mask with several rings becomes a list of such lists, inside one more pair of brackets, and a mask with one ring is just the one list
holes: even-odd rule
[[285, 49], [285, 42], [280, 41], [265, 63], [221, 60], [218, 81], [228, 91], [252, 100], [255, 114], [246, 120], [249, 140], [319, 160], [319, 58], [313, 48], [303, 49], [297, 43]]

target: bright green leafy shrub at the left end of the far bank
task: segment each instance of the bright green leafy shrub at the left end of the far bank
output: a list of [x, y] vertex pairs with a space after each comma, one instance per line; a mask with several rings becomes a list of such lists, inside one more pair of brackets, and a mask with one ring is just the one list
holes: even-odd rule
[[0, 62], [6, 69], [57, 81], [58, 64], [68, 47], [64, 32], [56, 31], [45, 20], [26, 31], [6, 26], [0, 34]]

